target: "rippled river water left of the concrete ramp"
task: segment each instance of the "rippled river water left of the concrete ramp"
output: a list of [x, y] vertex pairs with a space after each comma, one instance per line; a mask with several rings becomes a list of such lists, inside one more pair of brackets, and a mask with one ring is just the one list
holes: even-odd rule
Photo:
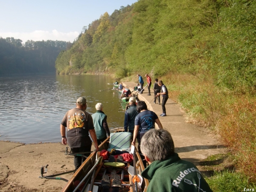
[[[111, 89], [110, 76], [25, 76], [0, 79], [0, 140], [20, 143], [61, 142], [60, 123], [76, 107], [76, 99], [87, 99], [87, 112], [103, 104], [109, 128], [123, 127], [118, 92]], [[104, 90], [104, 91], [99, 91]]]

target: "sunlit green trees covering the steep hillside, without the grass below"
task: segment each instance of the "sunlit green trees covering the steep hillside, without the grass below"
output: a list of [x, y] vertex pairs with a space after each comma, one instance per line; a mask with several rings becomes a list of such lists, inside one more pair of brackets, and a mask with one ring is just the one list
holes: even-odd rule
[[55, 66], [117, 78], [210, 75], [229, 89], [255, 89], [255, 10], [253, 0], [139, 0], [93, 21]]

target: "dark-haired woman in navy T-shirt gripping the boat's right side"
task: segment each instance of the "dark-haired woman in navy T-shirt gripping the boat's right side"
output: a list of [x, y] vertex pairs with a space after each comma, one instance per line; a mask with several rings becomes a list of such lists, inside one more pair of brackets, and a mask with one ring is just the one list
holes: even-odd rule
[[150, 129], [155, 128], [157, 123], [159, 129], [163, 129], [163, 126], [158, 119], [158, 116], [153, 111], [149, 111], [144, 101], [138, 101], [137, 103], [138, 115], [135, 118], [134, 136], [132, 145], [135, 146], [136, 138], [138, 140], [138, 150], [140, 152], [140, 141], [143, 135]]

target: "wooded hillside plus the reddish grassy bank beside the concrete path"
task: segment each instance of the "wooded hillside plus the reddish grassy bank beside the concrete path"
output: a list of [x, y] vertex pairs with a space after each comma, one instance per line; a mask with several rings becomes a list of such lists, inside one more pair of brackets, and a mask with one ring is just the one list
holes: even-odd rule
[[[245, 177], [230, 182], [240, 190], [256, 181], [255, 10], [255, 0], [138, 0], [86, 26], [58, 55], [56, 73], [162, 79], [187, 122], [231, 148], [233, 172]], [[217, 186], [229, 173], [215, 176]]]

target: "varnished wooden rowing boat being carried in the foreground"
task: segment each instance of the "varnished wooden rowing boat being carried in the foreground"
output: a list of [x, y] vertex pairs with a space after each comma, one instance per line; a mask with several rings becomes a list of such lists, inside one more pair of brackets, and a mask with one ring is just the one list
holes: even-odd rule
[[[108, 139], [106, 139], [101, 145], [99, 145], [99, 151], [102, 151], [104, 149], [107, 150], [109, 148], [109, 143], [110, 138], [108, 137]], [[105, 178], [106, 175], [108, 175], [107, 177], [110, 177], [110, 191], [112, 190], [114, 192], [114, 190], [116, 190], [114, 187], [116, 185], [113, 186], [116, 176], [120, 178], [121, 184], [118, 190], [126, 192], [146, 191], [149, 182], [147, 179], [140, 177], [141, 172], [145, 169], [145, 167], [143, 165], [143, 160], [141, 159], [140, 154], [137, 151], [137, 148], [134, 149], [134, 152], [132, 151], [134, 162], [123, 162], [125, 163], [125, 167], [122, 168], [105, 166], [104, 163], [108, 162], [108, 160], [102, 160], [102, 157], [100, 157], [99, 153], [100, 152], [93, 151], [90, 154], [90, 156], [84, 161], [84, 163], [82, 163], [82, 165], [74, 173], [70, 180], [68, 180], [67, 184], [64, 186], [61, 192], [101, 192], [102, 187], [104, 186], [102, 185], [102, 180], [104, 180], [103, 178]], [[134, 169], [133, 173], [131, 173], [131, 169]], [[113, 175], [115, 175], [114, 180]], [[88, 190], [88, 187], [90, 187], [89, 184], [91, 188]]]

